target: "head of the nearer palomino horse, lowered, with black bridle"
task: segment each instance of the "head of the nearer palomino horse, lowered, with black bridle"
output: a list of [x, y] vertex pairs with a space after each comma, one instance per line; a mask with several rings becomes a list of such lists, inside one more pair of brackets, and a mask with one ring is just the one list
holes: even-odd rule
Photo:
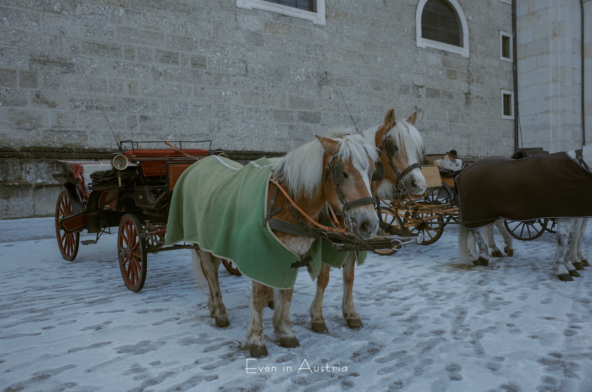
[[374, 161], [378, 159], [374, 146], [361, 134], [317, 138], [324, 149], [321, 187], [329, 204], [342, 213], [345, 224], [352, 225], [357, 237], [374, 237], [378, 230], [370, 191]]

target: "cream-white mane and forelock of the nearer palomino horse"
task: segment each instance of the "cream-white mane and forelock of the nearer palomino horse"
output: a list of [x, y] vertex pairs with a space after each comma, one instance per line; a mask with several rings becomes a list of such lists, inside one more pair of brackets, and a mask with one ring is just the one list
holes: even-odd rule
[[[368, 170], [368, 158], [373, 161], [378, 159], [374, 142], [366, 142], [351, 126], [334, 128], [327, 133], [327, 137], [338, 142], [342, 159], [351, 159], [353, 166], [362, 173]], [[311, 197], [321, 185], [324, 152], [323, 146], [315, 138], [279, 158], [274, 165], [274, 176], [282, 176], [288, 181], [291, 195], [306, 194]]]

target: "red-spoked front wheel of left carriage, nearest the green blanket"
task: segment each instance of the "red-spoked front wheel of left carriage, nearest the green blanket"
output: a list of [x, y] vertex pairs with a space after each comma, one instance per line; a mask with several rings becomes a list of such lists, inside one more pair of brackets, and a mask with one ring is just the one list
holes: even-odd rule
[[121, 218], [117, 233], [117, 255], [126, 287], [137, 293], [146, 281], [146, 244], [140, 237], [142, 225], [134, 214]]

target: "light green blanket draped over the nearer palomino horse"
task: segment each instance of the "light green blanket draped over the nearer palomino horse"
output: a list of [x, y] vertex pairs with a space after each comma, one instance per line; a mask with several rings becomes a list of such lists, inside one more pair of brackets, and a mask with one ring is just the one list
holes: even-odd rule
[[[173, 191], [166, 245], [196, 243], [214, 256], [233, 261], [243, 275], [256, 282], [292, 288], [298, 275], [292, 264], [300, 258], [275, 236], [269, 224], [262, 226], [274, 162], [260, 158], [242, 166], [208, 156], [191, 165]], [[365, 252], [360, 253], [363, 262]], [[321, 261], [340, 268], [346, 254], [315, 240], [305, 255], [312, 258], [311, 279], [318, 276]]]

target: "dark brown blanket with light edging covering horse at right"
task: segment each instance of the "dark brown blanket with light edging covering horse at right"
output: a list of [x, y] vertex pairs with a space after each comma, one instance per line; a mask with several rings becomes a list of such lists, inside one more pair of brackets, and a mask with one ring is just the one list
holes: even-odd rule
[[592, 216], [592, 172], [565, 152], [522, 159], [492, 156], [456, 176], [462, 221], [478, 229], [498, 218], [525, 221]]

